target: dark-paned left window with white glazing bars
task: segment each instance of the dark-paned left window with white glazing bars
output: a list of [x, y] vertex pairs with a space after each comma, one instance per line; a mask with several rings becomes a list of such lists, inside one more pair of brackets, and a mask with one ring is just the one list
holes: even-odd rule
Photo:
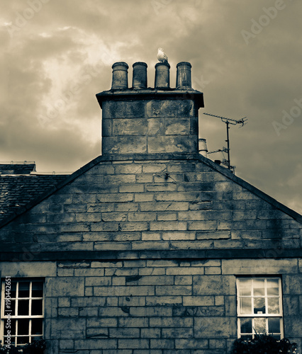
[[22, 346], [43, 338], [42, 280], [6, 278], [1, 299], [2, 343], [10, 340], [13, 346]]

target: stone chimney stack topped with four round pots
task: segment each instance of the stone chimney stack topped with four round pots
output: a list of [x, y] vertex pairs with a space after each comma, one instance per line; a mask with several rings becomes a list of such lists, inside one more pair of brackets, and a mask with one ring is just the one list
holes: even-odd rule
[[155, 88], [147, 88], [147, 64], [113, 64], [111, 90], [96, 95], [102, 108], [102, 154], [198, 154], [198, 108], [203, 93], [191, 88], [191, 64], [177, 64], [177, 88], [169, 87], [167, 62], [155, 65]]

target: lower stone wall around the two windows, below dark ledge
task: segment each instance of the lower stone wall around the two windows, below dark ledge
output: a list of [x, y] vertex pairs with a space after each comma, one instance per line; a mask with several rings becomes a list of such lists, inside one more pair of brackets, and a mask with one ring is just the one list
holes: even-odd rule
[[301, 344], [296, 259], [7, 262], [1, 270], [45, 278], [52, 354], [228, 353], [237, 338], [235, 275], [241, 274], [282, 275], [286, 337]]

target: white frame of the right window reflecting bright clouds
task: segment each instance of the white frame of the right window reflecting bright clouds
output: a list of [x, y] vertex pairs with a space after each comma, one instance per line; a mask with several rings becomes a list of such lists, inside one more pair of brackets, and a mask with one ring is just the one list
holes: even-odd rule
[[[264, 280], [264, 297], [265, 298], [265, 309], [268, 309], [267, 306], [267, 299], [269, 297], [277, 297], [276, 295], [267, 295], [267, 280], [278, 280], [278, 285], [279, 285], [279, 314], [240, 314], [240, 298], [242, 297], [251, 297], [252, 298], [252, 311], [254, 309], [254, 299], [257, 296], [254, 296], [254, 294], [252, 293], [251, 296], [244, 296], [244, 295], [240, 295], [240, 280], [252, 280], [252, 284], [254, 280]], [[274, 334], [280, 334], [280, 338], [284, 338], [284, 324], [283, 324], [283, 301], [282, 301], [282, 284], [281, 284], [281, 277], [278, 276], [238, 276], [236, 279], [236, 287], [237, 287], [237, 338], [240, 338], [241, 336], [247, 336], [249, 334], [247, 333], [241, 333], [241, 326], [240, 326], [240, 319], [242, 318], [251, 318], [252, 319], [252, 338], [255, 338], [255, 319], [261, 317], [261, 318], [265, 318], [266, 319], [266, 331], [267, 334], [272, 334], [268, 332], [268, 319], [270, 318], [279, 318], [280, 319], [280, 333], [273, 333]], [[252, 286], [253, 289], [253, 286]], [[260, 296], [258, 296], [260, 297]]]

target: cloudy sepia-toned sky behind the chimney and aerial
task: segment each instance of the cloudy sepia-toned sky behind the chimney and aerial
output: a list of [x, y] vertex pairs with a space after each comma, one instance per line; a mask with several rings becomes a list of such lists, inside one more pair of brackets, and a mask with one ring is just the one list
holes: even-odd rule
[[[235, 174], [302, 213], [302, 5], [297, 0], [0, 0], [0, 161], [72, 172], [101, 154], [95, 94], [111, 66], [164, 48], [175, 86], [191, 62], [204, 93], [200, 137], [226, 147]], [[222, 159], [221, 153], [209, 155]]]

